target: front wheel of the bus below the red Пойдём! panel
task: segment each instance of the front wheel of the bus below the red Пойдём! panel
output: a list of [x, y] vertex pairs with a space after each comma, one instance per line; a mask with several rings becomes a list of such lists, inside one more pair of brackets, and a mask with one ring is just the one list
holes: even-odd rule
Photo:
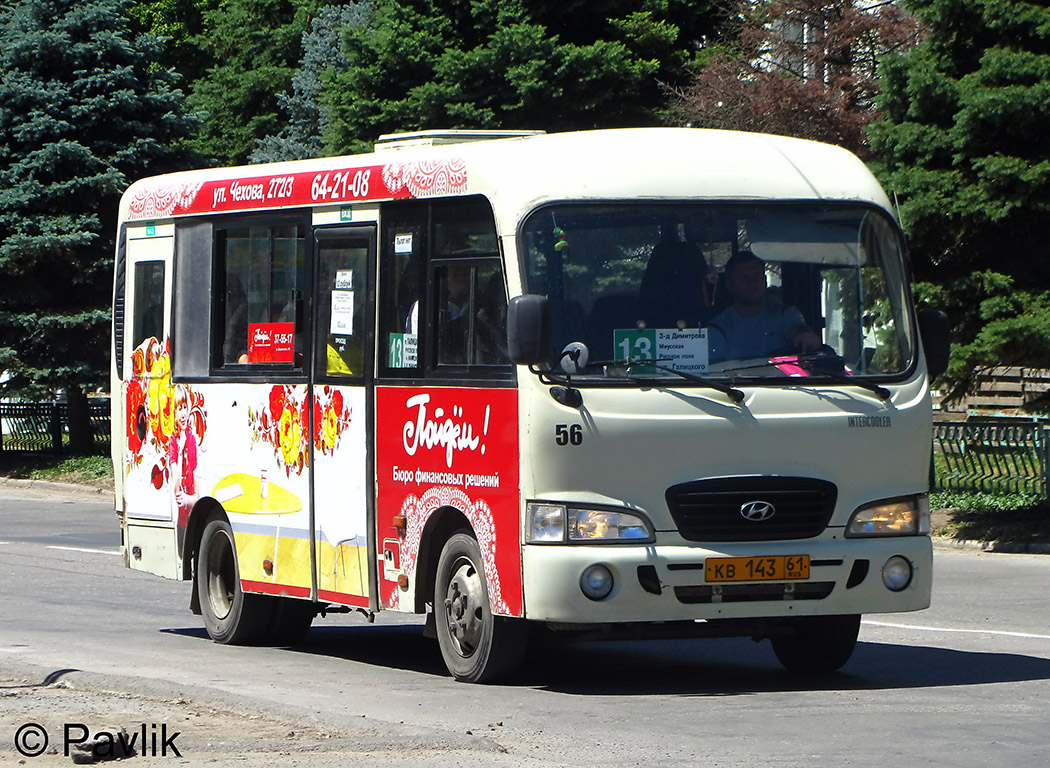
[[441, 551], [434, 614], [441, 656], [456, 680], [491, 683], [521, 666], [527, 626], [492, 616], [481, 549], [467, 533], [454, 534]]

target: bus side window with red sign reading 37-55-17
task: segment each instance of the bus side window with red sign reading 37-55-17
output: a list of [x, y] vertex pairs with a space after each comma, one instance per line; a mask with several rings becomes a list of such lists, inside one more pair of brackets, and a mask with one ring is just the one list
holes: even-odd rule
[[302, 368], [306, 237], [301, 225], [219, 230], [218, 367]]

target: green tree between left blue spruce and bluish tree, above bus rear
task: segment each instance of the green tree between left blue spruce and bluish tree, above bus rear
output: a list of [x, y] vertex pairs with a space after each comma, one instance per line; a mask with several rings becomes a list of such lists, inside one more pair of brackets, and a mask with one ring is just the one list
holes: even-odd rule
[[280, 132], [278, 95], [289, 90], [316, 0], [222, 0], [204, 14], [196, 45], [207, 71], [189, 85], [202, 120], [192, 146], [223, 165], [244, 163]]

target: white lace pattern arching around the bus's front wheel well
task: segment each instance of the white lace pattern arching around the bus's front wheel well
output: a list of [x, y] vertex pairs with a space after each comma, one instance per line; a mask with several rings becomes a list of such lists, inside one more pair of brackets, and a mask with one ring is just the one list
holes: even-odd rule
[[[401, 544], [401, 570], [413, 579], [416, 572], [416, 559], [419, 557], [419, 546], [423, 540], [423, 528], [437, 510], [452, 506], [463, 512], [470, 521], [478, 547], [481, 549], [482, 563], [485, 567], [485, 581], [488, 586], [488, 604], [494, 614], [510, 614], [500, 587], [500, 570], [496, 566], [496, 520], [491, 507], [482, 499], [471, 499], [463, 491], [450, 485], [437, 485], [423, 493], [422, 498], [415, 495], [406, 496], [401, 504], [401, 514], [405, 518], [404, 541]], [[397, 608], [401, 590], [395, 589], [390, 599], [390, 607]]]

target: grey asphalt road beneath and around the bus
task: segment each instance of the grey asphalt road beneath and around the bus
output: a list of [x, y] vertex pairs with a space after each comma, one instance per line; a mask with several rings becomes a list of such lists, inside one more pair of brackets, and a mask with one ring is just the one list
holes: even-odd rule
[[470, 686], [415, 619], [216, 645], [189, 585], [126, 570], [119, 540], [108, 500], [0, 486], [0, 763], [29, 722], [59, 750], [29, 766], [69, 764], [68, 723], [148, 725], [156, 746], [177, 728], [191, 766], [1050, 762], [1047, 556], [938, 549], [933, 606], [865, 617], [834, 676], [790, 674], [748, 640], [616, 642], [540, 648], [516, 684]]

